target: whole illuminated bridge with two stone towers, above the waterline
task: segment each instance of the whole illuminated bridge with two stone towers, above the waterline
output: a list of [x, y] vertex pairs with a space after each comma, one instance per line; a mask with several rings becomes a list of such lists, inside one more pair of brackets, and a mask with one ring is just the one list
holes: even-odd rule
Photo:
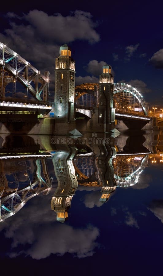
[[[67, 54], [64, 55], [64, 51]], [[64, 44], [60, 47], [60, 57], [56, 59], [55, 70], [55, 102], [49, 102], [49, 71], [42, 75], [19, 54], [0, 43], [0, 114], [3, 114], [1, 122], [7, 123], [6, 116], [11, 114], [33, 115], [31, 129], [33, 127], [34, 134], [39, 133], [39, 127], [34, 127], [36, 123], [34, 119], [39, 117], [43, 117], [42, 120], [39, 119], [39, 124], [44, 122], [42, 129], [45, 132], [47, 132], [45, 125], [49, 124], [53, 133], [62, 131], [67, 134], [78, 124], [74, 119], [83, 119], [83, 122], [78, 124], [80, 131], [94, 131], [98, 125], [100, 132], [109, 132], [110, 129], [115, 128], [115, 122], [121, 120], [125, 124], [130, 121], [131, 125], [141, 121], [141, 128], [153, 120], [153, 117], [148, 114], [148, 104], [141, 93], [129, 84], [114, 83], [111, 67], [107, 64], [103, 66], [99, 83], [85, 83], [74, 89], [75, 62], [71, 58], [70, 48]], [[71, 78], [66, 72], [71, 75]], [[49, 121], [46, 124], [44, 119], [51, 117], [50, 114], [47, 115], [51, 110], [55, 121]], [[13, 123], [18, 122], [17, 116]], [[26, 118], [22, 117], [20, 122], [24, 122]], [[91, 123], [87, 123], [90, 119]], [[58, 124], [64, 122], [70, 125], [64, 126], [64, 130], [61, 130]], [[5, 127], [8, 129], [7, 125]], [[10, 126], [9, 130], [14, 131]]]

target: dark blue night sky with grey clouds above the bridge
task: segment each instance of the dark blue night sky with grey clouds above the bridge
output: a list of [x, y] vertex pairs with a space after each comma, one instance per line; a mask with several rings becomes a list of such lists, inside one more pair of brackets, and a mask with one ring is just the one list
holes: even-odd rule
[[76, 84], [98, 82], [102, 66], [112, 66], [114, 82], [136, 87], [151, 107], [163, 107], [162, 2], [93, 1], [1, 4], [0, 41], [33, 66], [50, 71], [67, 43], [76, 60]]

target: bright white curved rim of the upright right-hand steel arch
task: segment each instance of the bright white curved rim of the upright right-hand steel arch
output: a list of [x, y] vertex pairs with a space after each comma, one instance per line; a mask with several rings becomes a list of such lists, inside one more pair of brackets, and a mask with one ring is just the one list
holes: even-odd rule
[[[124, 93], [124, 92], [130, 93], [132, 96], [134, 96], [134, 98], [137, 99], [140, 106], [142, 107], [144, 114], [148, 115], [148, 104], [144, 101], [143, 96], [139, 93], [139, 91], [136, 88], [132, 87], [129, 84], [122, 83], [122, 82], [114, 83], [114, 95], [118, 94], [118, 93]], [[123, 95], [123, 97], [124, 97], [124, 95]]]

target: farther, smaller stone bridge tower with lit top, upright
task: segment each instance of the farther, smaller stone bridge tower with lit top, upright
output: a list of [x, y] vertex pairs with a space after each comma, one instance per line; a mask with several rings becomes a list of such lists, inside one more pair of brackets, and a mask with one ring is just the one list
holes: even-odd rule
[[113, 102], [114, 78], [111, 66], [105, 64], [99, 77], [99, 123], [104, 124], [105, 131], [115, 128], [115, 109]]

